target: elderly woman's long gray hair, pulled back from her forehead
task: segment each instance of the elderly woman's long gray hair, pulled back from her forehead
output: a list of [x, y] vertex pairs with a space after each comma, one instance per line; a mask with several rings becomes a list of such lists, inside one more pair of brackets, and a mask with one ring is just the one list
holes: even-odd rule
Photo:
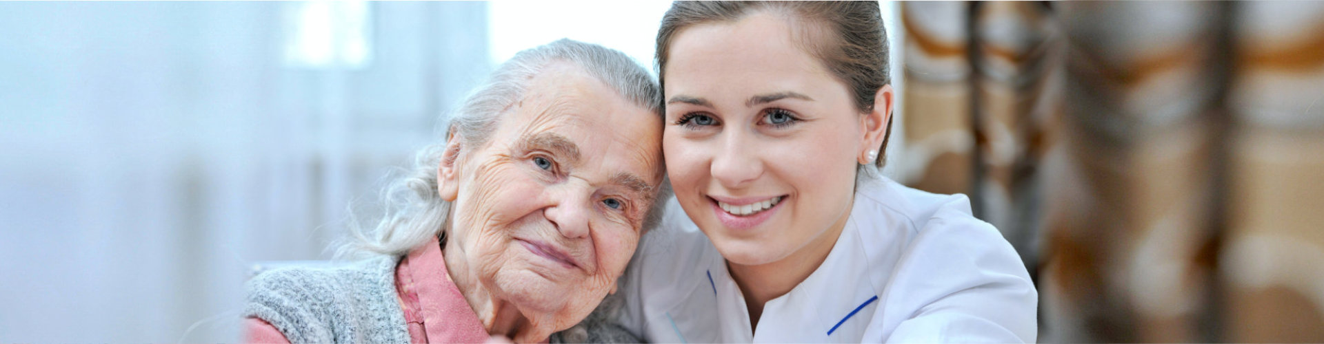
[[[401, 255], [440, 236], [450, 213], [450, 202], [437, 193], [437, 167], [445, 156], [446, 140], [458, 134], [463, 138], [465, 147], [487, 143], [500, 115], [526, 97], [528, 81], [557, 61], [583, 67], [626, 101], [662, 116], [662, 94], [657, 81], [621, 52], [565, 38], [519, 52], [498, 66], [487, 82], [475, 89], [450, 118], [441, 119], [446, 128], [442, 142], [420, 150], [409, 175], [384, 189], [385, 214], [375, 230], [367, 233], [351, 224], [351, 242], [342, 245], [338, 255], [365, 251]], [[657, 201], [649, 209], [643, 230], [657, 226], [666, 198], [670, 197], [667, 184], [663, 180], [658, 187]]]

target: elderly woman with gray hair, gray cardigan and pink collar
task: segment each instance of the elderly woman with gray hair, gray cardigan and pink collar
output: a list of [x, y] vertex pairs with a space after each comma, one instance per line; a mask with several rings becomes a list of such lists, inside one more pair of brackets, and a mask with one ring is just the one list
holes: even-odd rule
[[620, 52], [516, 54], [395, 184], [408, 200], [356, 233], [375, 258], [250, 280], [248, 340], [547, 341], [616, 291], [655, 222], [659, 103]]

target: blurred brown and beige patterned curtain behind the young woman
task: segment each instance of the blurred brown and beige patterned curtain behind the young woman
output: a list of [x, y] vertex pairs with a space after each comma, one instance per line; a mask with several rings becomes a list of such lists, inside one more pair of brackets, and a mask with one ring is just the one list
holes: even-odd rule
[[1002, 230], [1039, 340], [1324, 341], [1324, 3], [899, 12], [899, 179]]

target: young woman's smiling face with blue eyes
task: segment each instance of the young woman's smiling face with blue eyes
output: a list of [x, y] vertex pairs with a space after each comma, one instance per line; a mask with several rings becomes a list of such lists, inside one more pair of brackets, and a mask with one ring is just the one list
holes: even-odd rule
[[825, 233], [850, 214], [865, 116], [798, 33], [782, 16], [757, 13], [671, 41], [667, 173], [681, 206], [732, 263], [835, 242]]

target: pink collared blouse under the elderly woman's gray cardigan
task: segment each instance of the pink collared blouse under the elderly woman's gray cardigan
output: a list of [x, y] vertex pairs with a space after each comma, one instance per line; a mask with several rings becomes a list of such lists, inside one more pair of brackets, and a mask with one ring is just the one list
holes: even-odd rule
[[[405, 311], [412, 343], [485, 343], [487, 331], [450, 279], [441, 245], [433, 238], [396, 266], [396, 295]], [[246, 343], [290, 343], [270, 323], [244, 322]]]

